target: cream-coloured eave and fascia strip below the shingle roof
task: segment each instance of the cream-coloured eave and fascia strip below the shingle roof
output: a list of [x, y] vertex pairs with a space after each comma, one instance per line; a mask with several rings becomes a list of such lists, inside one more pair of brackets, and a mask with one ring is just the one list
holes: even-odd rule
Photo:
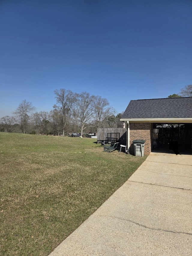
[[120, 121], [132, 123], [192, 123], [192, 118], [121, 118]]

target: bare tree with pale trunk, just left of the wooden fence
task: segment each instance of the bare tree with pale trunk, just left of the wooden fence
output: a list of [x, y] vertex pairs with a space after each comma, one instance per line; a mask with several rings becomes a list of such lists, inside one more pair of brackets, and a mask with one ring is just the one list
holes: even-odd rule
[[83, 136], [83, 131], [89, 125], [88, 122], [94, 118], [94, 107], [93, 102], [94, 96], [90, 96], [88, 92], [82, 92], [76, 94], [76, 102], [73, 107], [73, 115], [76, 119], [77, 125], [81, 130], [81, 136]]

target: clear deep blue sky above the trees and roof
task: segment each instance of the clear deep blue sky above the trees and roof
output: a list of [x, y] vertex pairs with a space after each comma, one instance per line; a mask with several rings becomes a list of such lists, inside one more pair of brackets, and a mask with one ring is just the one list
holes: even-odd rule
[[192, 83], [191, 0], [0, 0], [0, 24], [0, 118], [60, 88], [121, 113]]

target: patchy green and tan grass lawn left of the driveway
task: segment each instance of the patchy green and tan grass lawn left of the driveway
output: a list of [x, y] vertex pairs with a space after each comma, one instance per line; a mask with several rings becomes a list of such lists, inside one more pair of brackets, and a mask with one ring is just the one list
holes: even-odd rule
[[0, 255], [48, 255], [146, 159], [95, 141], [0, 133]]

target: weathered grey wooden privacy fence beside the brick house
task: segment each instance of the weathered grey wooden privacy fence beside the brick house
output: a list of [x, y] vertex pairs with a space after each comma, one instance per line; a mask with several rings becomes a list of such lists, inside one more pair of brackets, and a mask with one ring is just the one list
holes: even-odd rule
[[97, 143], [121, 142], [127, 144], [126, 128], [100, 128], [97, 129]]

